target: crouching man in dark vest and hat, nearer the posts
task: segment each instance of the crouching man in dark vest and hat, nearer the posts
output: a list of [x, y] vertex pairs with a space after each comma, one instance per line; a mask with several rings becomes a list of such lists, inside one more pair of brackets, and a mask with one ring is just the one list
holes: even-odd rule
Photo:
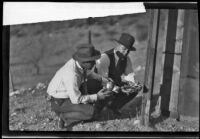
[[[119, 40], [115, 40], [116, 47], [106, 51], [97, 60], [98, 74], [111, 78], [114, 83], [121, 87], [123, 86], [123, 77], [129, 73], [133, 73], [131, 60], [128, 57], [130, 51], [136, 51], [133, 47], [135, 38], [128, 34], [122, 33]], [[114, 113], [120, 115], [119, 109], [122, 108], [128, 101], [135, 97], [135, 94], [125, 95], [123, 93], [115, 94], [115, 99], [109, 106]]]

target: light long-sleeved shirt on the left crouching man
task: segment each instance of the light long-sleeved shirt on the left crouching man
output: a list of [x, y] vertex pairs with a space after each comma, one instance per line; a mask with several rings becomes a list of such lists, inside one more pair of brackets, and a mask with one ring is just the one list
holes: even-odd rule
[[[93, 71], [90, 72], [92, 73]], [[81, 94], [79, 88], [83, 80], [83, 69], [78, 62], [70, 59], [56, 72], [49, 83], [47, 93], [55, 98], [69, 98], [73, 104], [97, 101], [97, 94]]]

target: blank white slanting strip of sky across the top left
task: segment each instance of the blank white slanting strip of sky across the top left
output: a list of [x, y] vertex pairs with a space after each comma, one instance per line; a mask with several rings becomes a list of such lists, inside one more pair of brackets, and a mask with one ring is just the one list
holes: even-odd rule
[[143, 2], [4, 2], [3, 25], [146, 12]]

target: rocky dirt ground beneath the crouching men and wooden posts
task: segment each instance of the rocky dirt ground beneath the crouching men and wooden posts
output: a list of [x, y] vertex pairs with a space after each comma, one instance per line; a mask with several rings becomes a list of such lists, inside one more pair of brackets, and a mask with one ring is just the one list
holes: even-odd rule
[[[46, 85], [20, 90], [9, 97], [9, 129], [11, 131], [62, 131], [58, 128], [58, 117], [51, 111], [47, 99]], [[72, 131], [199, 131], [199, 118], [180, 117], [180, 120], [163, 116], [151, 117], [151, 126], [139, 124], [137, 114], [141, 97], [122, 108], [122, 116], [116, 117], [109, 110], [103, 110], [97, 121], [78, 123]]]

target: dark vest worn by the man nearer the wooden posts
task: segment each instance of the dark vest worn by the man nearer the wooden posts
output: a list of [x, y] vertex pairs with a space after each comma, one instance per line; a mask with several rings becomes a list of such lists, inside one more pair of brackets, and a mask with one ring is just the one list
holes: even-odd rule
[[115, 66], [115, 56], [114, 56], [114, 49], [108, 50], [105, 52], [110, 59], [108, 77], [113, 79], [116, 85], [121, 86], [121, 75], [125, 72], [127, 58], [123, 59], [120, 63], [120, 67]]

